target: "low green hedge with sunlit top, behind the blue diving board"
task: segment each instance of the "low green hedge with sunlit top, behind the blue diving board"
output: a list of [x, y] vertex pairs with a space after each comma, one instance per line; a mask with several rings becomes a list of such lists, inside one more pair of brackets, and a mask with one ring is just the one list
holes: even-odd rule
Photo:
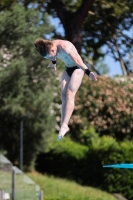
[[56, 135], [53, 135], [49, 150], [38, 156], [36, 168], [40, 172], [133, 199], [132, 170], [103, 168], [110, 163], [133, 163], [131, 141], [117, 142], [110, 136], [99, 137], [91, 127], [82, 131], [81, 139], [85, 145], [72, 142], [67, 136], [60, 143], [55, 139]]

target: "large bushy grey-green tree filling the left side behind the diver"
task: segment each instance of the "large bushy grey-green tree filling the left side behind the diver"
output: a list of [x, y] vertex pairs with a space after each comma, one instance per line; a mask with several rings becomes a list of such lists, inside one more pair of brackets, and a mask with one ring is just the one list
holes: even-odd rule
[[46, 146], [55, 130], [51, 102], [56, 81], [33, 45], [35, 39], [53, 30], [47, 14], [43, 17], [41, 23], [38, 11], [21, 5], [0, 13], [0, 148], [18, 164], [20, 117], [32, 114], [24, 120], [24, 165], [28, 167], [41, 149], [41, 141]]

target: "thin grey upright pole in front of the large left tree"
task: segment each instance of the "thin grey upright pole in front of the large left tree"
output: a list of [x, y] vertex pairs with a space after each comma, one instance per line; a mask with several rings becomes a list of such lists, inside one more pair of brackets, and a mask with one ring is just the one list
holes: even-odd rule
[[20, 169], [23, 171], [23, 117], [20, 119]]

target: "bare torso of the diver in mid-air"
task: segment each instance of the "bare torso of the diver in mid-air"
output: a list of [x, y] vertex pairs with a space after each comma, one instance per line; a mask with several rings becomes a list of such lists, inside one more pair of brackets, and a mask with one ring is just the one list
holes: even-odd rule
[[78, 55], [74, 45], [67, 40], [54, 40], [53, 43], [57, 46], [56, 57], [61, 59], [66, 67], [74, 67], [75, 62], [71, 59], [71, 51]]

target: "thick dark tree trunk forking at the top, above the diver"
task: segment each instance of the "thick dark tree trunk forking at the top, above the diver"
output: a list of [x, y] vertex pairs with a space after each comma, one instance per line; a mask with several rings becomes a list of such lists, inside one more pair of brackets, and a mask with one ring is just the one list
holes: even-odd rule
[[54, 0], [51, 2], [65, 29], [66, 39], [75, 45], [79, 53], [81, 52], [83, 21], [93, 2], [94, 0], [83, 0], [76, 12], [67, 10], [63, 0]]

